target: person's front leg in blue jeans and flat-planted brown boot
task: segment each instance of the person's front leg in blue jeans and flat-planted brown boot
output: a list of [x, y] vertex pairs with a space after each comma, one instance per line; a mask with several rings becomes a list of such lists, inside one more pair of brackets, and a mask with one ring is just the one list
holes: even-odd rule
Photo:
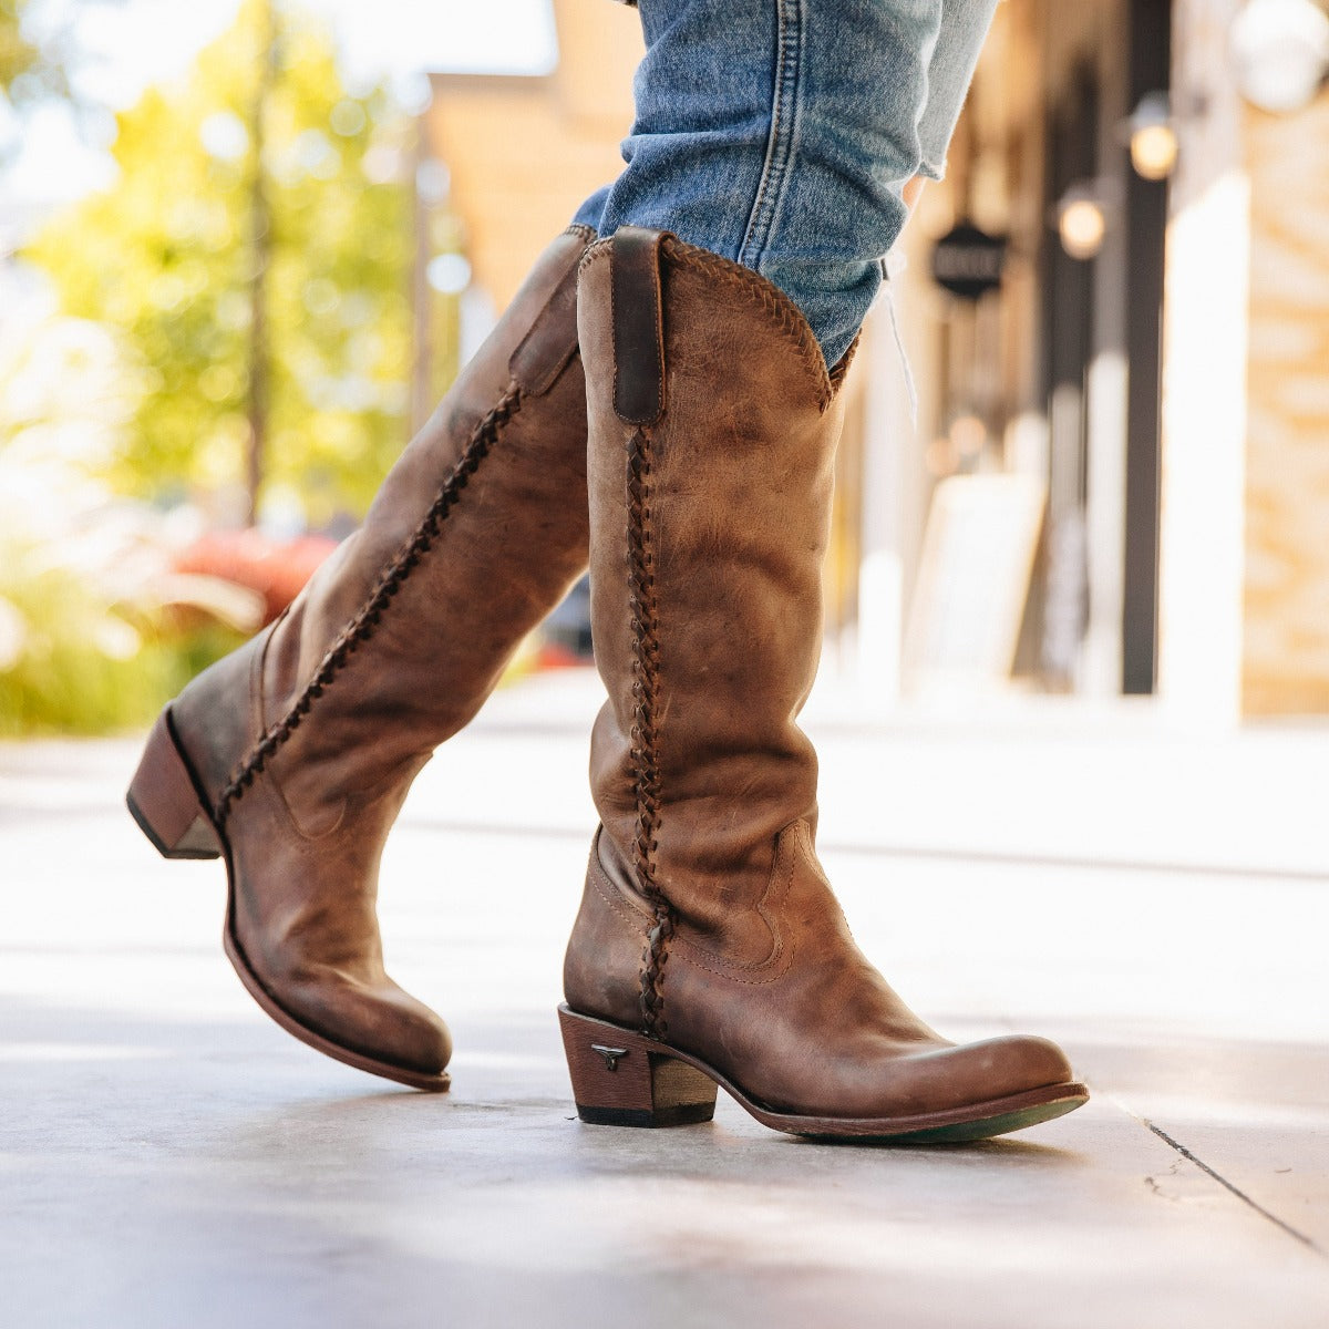
[[[578, 1112], [698, 1122], [724, 1084], [766, 1124], [813, 1136], [965, 1140], [1049, 1120], [1087, 1096], [1059, 1049], [954, 1046], [855, 946], [816, 859], [816, 755], [795, 724], [820, 650], [843, 416], [844, 369], [827, 361], [857, 332], [904, 187], [941, 165], [918, 136], [941, 7], [781, 0], [762, 48], [773, 81], [748, 102], [760, 54], [722, 78], [716, 52], [758, 47], [766, 7], [645, 8], [647, 102], [653, 57], [696, 24], [671, 70], [675, 124], [694, 118], [666, 133], [639, 110], [602, 222], [613, 234], [578, 284], [609, 694], [591, 735], [601, 828], [563, 969]], [[851, 17], [865, 40], [839, 25]], [[894, 112], [872, 102], [884, 69]], [[723, 121], [707, 121], [706, 85]], [[672, 193], [634, 183], [647, 159]], [[659, 207], [655, 227], [622, 223], [615, 198], [634, 217]], [[692, 239], [708, 223], [724, 225], [702, 246], [662, 229]]]

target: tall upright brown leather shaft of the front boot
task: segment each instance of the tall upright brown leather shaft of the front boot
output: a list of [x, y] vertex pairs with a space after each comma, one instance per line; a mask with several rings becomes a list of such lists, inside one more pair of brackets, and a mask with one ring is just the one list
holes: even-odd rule
[[605, 833], [642, 889], [760, 960], [776, 835], [816, 816], [795, 724], [821, 642], [841, 407], [769, 283], [625, 229], [582, 264]]

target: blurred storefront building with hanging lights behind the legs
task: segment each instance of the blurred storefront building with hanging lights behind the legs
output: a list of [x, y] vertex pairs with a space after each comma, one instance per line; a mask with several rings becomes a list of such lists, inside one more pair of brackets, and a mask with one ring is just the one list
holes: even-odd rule
[[[548, 76], [433, 80], [419, 303], [456, 247], [462, 324], [619, 166], [635, 15], [554, 15]], [[1318, 0], [999, 5], [849, 379], [828, 629], [868, 695], [1329, 711], [1325, 33]]]

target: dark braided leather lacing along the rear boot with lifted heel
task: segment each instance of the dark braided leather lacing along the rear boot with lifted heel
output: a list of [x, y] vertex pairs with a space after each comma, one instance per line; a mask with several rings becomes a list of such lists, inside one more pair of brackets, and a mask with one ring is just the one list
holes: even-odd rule
[[476, 425], [466, 447], [439, 489], [437, 497], [429, 505], [429, 510], [421, 518], [420, 525], [416, 526], [409, 540], [407, 540], [380, 573], [373, 590], [369, 593], [369, 598], [360, 606], [355, 617], [342, 629], [336, 641], [328, 647], [323, 662], [304, 686], [304, 691], [288, 707], [286, 715], [241, 760], [235, 775], [231, 776], [226, 788], [222, 789], [213, 809], [213, 820], [218, 827], [225, 825], [231, 807], [243, 796], [255, 777], [262, 773], [268, 760], [276, 755], [282, 746], [300, 727], [302, 720], [310, 714], [314, 703], [323, 695], [338, 674], [342, 672], [356, 650], [373, 635], [373, 630], [379, 626], [393, 597], [401, 590], [407, 578], [420, 563], [420, 560], [433, 548], [433, 542], [437, 540], [443, 524], [448, 520], [448, 514], [456, 506], [461, 490], [466, 488], [470, 477], [480, 469], [480, 462], [484, 461], [489, 455], [489, 449], [497, 443], [500, 431], [520, 409], [521, 389], [516, 384], [512, 384], [502, 397], [498, 399], [497, 405]]

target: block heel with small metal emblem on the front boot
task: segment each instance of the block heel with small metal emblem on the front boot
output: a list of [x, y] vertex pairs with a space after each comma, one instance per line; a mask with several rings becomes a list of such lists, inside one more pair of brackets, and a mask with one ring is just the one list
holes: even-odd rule
[[593, 1126], [694, 1126], [715, 1115], [715, 1082], [661, 1043], [558, 1007], [577, 1115]]

